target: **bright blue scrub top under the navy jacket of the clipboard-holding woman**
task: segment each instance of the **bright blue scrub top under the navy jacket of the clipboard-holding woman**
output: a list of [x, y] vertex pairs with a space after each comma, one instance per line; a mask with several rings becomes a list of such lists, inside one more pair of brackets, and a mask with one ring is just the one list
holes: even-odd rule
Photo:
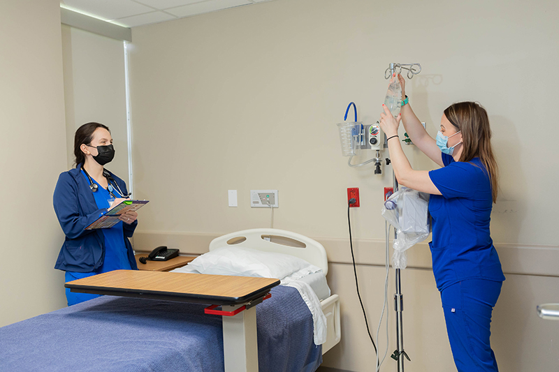
[[[89, 179], [83, 170], [82, 174], [89, 184]], [[114, 198], [112, 198], [105, 188], [101, 187], [95, 180], [93, 181], [97, 184], [97, 191], [93, 193], [97, 207], [99, 209], [110, 208], [110, 202], [112, 202]], [[117, 198], [122, 198], [118, 191], [113, 191], [113, 194], [115, 194]], [[95, 271], [95, 274], [119, 269], [132, 269], [128, 260], [128, 251], [126, 251], [126, 245], [124, 245], [122, 223], [121, 221], [112, 226], [112, 228], [103, 229], [103, 235], [105, 236], [105, 258], [103, 260], [103, 265]]]

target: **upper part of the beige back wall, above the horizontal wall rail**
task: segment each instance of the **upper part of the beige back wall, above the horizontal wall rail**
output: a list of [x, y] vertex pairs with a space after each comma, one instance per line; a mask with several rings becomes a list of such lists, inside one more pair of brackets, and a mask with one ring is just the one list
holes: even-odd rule
[[[542, 135], [555, 128], [544, 97], [558, 82], [545, 68], [559, 54], [558, 5], [406, 4], [278, 0], [133, 29], [135, 179], [153, 201], [142, 228], [266, 225], [269, 211], [248, 207], [249, 190], [277, 188], [278, 226], [345, 237], [345, 189], [358, 186], [356, 237], [381, 239], [391, 168], [379, 177], [347, 167], [335, 123], [349, 101], [363, 121], [377, 119], [389, 62], [419, 61], [408, 92], [432, 135], [454, 101], [477, 100], [491, 115], [502, 170], [494, 240], [557, 245], [549, 195], [559, 176]], [[406, 150], [416, 168], [435, 167]], [[227, 207], [228, 188], [240, 207]]]

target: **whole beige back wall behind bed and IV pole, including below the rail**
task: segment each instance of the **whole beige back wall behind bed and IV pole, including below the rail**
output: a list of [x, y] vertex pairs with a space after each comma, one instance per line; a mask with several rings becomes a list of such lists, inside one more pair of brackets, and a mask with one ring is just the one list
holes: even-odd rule
[[[369, 371], [372, 349], [347, 265], [346, 188], [360, 188], [352, 225], [376, 325], [384, 284], [379, 211], [392, 172], [349, 168], [335, 124], [349, 101], [365, 123], [376, 120], [388, 64], [417, 61], [423, 70], [407, 93], [431, 135], [455, 101], [479, 101], [490, 114], [502, 172], [492, 235], [507, 272], [493, 323], [502, 369], [554, 369], [559, 322], [537, 318], [535, 305], [559, 301], [559, 205], [551, 196], [559, 167], [549, 109], [559, 76], [548, 72], [559, 57], [558, 13], [551, 1], [277, 0], [133, 29], [134, 182], [136, 197], [151, 200], [140, 211], [136, 248], [166, 243], [201, 253], [216, 235], [268, 226], [270, 211], [251, 209], [249, 190], [278, 189], [275, 227], [326, 246], [329, 283], [342, 297], [342, 343], [324, 365]], [[405, 151], [414, 168], [435, 168], [414, 147]], [[227, 206], [228, 189], [238, 190], [239, 207]], [[402, 283], [413, 369], [451, 371], [425, 244], [412, 248], [409, 266]]]

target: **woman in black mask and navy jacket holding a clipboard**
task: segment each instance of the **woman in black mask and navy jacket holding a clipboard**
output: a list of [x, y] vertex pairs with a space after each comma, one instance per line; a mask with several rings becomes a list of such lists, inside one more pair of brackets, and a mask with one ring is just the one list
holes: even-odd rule
[[[110, 206], [128, 198], [126, 184], [103, 165], [112, 161], [115, 149], [109, 128], [87, 123], [75, 132], [75, 168], [60, 174], [53, 204], [66, 239], [56, 269], [66, 271], [65, 281], [117, 269], [138, 269], [129, 237], [138, 225], [138, 214], [130, 211], [112, 228], [84, 230]], [[68, 306], [99, 295], [70, 292]]]

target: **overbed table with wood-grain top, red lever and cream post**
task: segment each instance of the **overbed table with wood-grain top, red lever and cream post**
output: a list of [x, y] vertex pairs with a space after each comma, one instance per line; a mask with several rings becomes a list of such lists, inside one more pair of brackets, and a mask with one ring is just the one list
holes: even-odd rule
[[[70, 281], [72, 292], [143, 297], [212, 304], [207, 313], [222, 315], [226, 372], [257, 372], [256, 304], [279, 285], [275, 278], [249, 278], [162, 271], [115, 270]], [[222, 311], [215, 311], [222, 306]]]

